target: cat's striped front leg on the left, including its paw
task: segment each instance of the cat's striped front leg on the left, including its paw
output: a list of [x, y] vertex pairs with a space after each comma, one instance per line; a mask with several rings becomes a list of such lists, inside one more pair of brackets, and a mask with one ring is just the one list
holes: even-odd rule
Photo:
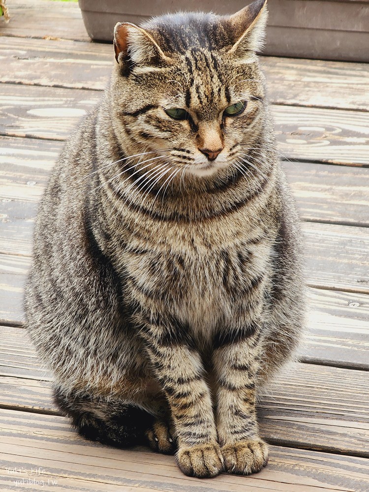
[[168, 400], [185, 475], [215, 477], [223, 470], [211, 392], [187, 327], [157, 314], [142, 316], [142, 335], [157, 380]]

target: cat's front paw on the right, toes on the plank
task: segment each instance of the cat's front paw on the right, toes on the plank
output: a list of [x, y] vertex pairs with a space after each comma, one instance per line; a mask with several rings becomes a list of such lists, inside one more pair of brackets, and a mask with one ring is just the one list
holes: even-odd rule
[[260, 471], [268, 462], [268, 446], [261, 439], [226, 444], [221, 453], [228, 473], [249, 475]]

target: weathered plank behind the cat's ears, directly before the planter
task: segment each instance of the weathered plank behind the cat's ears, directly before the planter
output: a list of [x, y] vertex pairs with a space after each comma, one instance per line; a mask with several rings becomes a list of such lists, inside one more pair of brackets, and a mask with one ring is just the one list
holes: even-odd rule
[[[113, 50], [110, 44], [39, 39], [28, 39], [25, 45], [20, 38], [4, 36], [1, 59], [2, 82], [101, 90], [110, 73]], [[96, 63], [88, 64], [86, 59]], [[367, 63], [277, 57], [261, 57], [261, 62], [272, 102], [368, 110]]]

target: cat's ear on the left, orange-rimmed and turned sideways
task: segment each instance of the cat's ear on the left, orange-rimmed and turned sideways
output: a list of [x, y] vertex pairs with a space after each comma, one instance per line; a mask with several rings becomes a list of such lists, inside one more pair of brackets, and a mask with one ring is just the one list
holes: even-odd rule
[[115, 59], [119, 63], [119, 55], [129, 58], [133, 64], [148, 66], [160, 62], [169, 62], [159, 45], [144, 29], [130, 22], [119, 22], [114, 28]]

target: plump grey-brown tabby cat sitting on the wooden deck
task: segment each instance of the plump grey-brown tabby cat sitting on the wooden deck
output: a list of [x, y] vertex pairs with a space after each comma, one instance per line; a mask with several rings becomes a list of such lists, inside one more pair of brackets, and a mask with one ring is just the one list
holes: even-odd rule
[[257, 391], [304, 324], [265, 3], [117, 24], [110, 84], [36, 220], [25, 308], [58, 405], [88, 439], [176, 452], [195, 477], [266, 464]]

